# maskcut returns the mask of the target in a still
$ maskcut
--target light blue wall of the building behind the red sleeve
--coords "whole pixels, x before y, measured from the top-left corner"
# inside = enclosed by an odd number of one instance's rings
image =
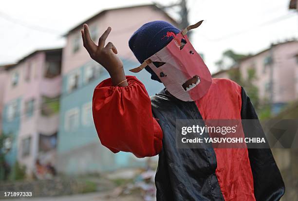
[[[90,61],[93,62],[93,61]],[[72,72],[64,74],[62,76],[62,94],[60,98],[60,123],[59,123],[59,132],[58,132],[58,146],[57,146],[57,153],[63,154],[65,152],[69,152],[71,150],[79,149],[80,147],[86,146],[93,142],[100,143],[97,133],[94,127],[94,124],[90,126],[82,125],[82,107],[84,104],[88,102],[92,102],[93,90],[95,86],[97,86],[102,80],[109,78],[109,74],[105,69],[101,69],[100,75],[97,79],[93,80],[88,84],[84,84],[83,78],[85,73],[85,68],[90,62],[86,63],[85,65],[74,69]],[[139,63],[130,61],[130,60],[123,60],[125,73],[127,75],[135,75],[140,81],[143,82],[145,85],[149,95],[154,95],[155,93],[161,91],[164,86],[156,81],[150,80],[150,74],[145,70],[141,71],[140,73],[131,73],[129,69],[134,68],[139,65]],[[79,76],[79,84],[78,89],[72,92],[67,91],[67,84],[70,74],[75,71],[80,72]],[[67,131],[65,130],[65,113],[69,110],[77,108],[79,110],[79,125],[74,131]],[[92,113],[90,113],[92,115]],[[110,151],[106,149],[106,151]],[[98,153],[101,154],[101,153]],[[126,152],[119,152],[117,154],[113,154],[114,164],[116,166],[111,167],[111,169],[119,168],[119,167],[127,167],[130,166],[129,158],[132,157],[132,154]],[[109,159],[111,160],[111,159]],[[72,161],[71,166],[75,166],[75,162]],[[104,163],[104,161],[102,162]],[[93,165],[94,169],[98,168],[96,165]],[[106,168],[100,168],[106,169]],[[68,171],[68,170],[67,170]],[[74,172],[75,170],[72,170]],[[87,171],[87,170],[86,170]]]

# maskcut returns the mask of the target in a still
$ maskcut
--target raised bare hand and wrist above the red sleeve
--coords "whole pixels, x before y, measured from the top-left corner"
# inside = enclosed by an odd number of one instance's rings
[[[123,70],[123,63],[120,58],[116,55],[117,49],[112,44],[108,42],[105,46],[106,39],[111,32],[111,27],[99,37],[98,45],[96,45],[90,37],[89,27],[87,24],[84,24],[84,29],[81,30],[83,45],[86,48],[87,52],[91,58],[101,64],[110,74],[112,78],[113,85],[117,85],[121,81],[125,80],[125,74]],[[119,86],[127,86],[127,82],[123,82]]]

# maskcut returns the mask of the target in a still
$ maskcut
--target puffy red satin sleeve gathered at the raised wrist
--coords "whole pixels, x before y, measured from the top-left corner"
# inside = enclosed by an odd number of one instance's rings
[[[135,76],[126,78],[127,87],[114,87],[109,78],[94,89],[92,109],[98,137],[114,153],[155,156],[162,148],[162,129],[152,116],[145,86]]]

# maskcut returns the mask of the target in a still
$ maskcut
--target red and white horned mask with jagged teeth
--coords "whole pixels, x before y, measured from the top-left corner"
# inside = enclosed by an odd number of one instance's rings
[[[202,22],[188,26],[166,47],[130,71],[137,73],[149,66],[176,98],[195,101],[203,97],[211,85],[211,74],[186,35],[188,30],[200,26]]]

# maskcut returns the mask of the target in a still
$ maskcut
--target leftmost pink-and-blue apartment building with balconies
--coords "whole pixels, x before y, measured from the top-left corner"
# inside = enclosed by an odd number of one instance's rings
[[[55,163],[62,49],[38,50],[6,66],[2,132],[6,161],[32,173],[36,159]]]

